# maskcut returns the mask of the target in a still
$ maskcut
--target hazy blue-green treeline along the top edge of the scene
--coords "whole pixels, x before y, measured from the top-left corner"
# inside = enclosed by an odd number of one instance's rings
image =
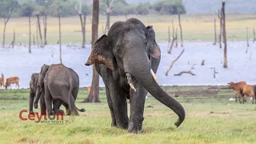
[[[100,14],[106,14],[106,1],[100,0]],[[129,4],[126,0],[114,0],[111,15],[124,14],[186,14],[180,0],[162,0],[154,3],[140,2]],[[81,14],[91,14],[92,4],[85,0],[0,0],[0,17],[26,17],[34,14],[69,17]]]

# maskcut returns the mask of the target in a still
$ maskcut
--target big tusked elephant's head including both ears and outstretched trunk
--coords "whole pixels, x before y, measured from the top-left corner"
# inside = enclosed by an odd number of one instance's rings
[[[185,110],[179,102],[162,90],[150,72],[150,58],[160,57],[161,52],[155,42],[153,27],[146,27],[138,19],[130,18],[126,22],[115,22],[108,36],[98,38],[86,65],[98,63],[110,70],[124,70],[126,75],[131,75],[141,82],[154,98],[178,114],[175,125],[179,126],[185,118]]]

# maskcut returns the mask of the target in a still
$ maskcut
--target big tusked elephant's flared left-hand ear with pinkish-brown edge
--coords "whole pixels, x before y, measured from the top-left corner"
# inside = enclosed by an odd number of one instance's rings
[[[114,55],[107,42],[106,34],[95,42],[90,57],[86,62],[86,66],[93,65],[94,63],[103,64],[110,70],[116,70],[117,63],[114,60]]]

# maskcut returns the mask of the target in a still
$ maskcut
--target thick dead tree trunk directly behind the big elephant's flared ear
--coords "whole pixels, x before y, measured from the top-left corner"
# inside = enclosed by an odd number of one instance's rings
[[[91,34],[91,49],[93,49],[94,42],[98,38],[98,13],[99,2],[94,0],[93,2],[93,21],[92,21],[92,34]],[[99,75],[93,66],[93,79],[91,82],[90,94],[84,102],[100,102],[99,100]]]

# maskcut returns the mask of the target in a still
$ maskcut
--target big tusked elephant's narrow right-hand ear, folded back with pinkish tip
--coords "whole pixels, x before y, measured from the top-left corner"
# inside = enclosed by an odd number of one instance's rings
[[[160,50],[160,47],[158,46],[158,43],[155,42],[155,33],[154,33],[153,26],[146,26],[146,30],[147,30],[146,38],[150,48],[149,54],[153,58],[160,59],[161,50]]]

